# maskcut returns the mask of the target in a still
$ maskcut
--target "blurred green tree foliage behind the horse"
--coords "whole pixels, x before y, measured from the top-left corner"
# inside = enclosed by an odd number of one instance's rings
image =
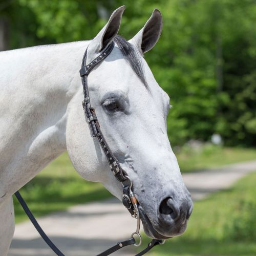
[[[0,4],[10,49],[93,38],[120,0],[14,0]],[[171,96],[174,145],[220,134],[226,145],[256,144],[256,2],[254,0],[126,1],[120,34],[131,38],[154,8],[164,27],[145,55]]]

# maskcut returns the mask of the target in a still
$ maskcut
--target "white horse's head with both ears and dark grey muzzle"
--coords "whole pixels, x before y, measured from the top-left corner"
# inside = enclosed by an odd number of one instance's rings
[[[115,44],[88,76],[91,104],[106,141],[133,181],[146,234],[165,239],[184,232],[193,203],[167,136],[169,97],[143,58],[160,37],[162,16],[155,9],[145,26],[126,41],[117,35],[123,11],[124,7],[115,10],[89,43],[87,64],[113,41]],[[110,172],[99,142],[91,137],[84,120],[82,97],[81,88],[69,104],[68,153],[83,178],[101,182],[122,199],[122,185]]]

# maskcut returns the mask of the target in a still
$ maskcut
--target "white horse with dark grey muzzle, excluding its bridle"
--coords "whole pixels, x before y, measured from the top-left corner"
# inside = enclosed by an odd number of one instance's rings
[[[91,104],[121,167],[133,180],[146,234],[165,239],[184,232],[193,204],[166,132],[169,97],[143,58],[158,41],[154,10],[129,41],[117,36],[124,6],[90,41],[0,53],[0,254],[14,232],[12,195],[68,150],[77,172],[122,198],[84,118],[79,69],[114,40],[111,54],[88,77]],[[143,208],[143,210],[142,210]]]

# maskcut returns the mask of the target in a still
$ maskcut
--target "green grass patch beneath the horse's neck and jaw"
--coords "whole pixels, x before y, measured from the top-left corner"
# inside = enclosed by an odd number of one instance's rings
[[[82,179],[74,170],[65,153],[48,165],[40,174],[20,189],[20,193],[36,217],[69,206],[106,199],[112,195],[101,184]],[[14,199],[15,222],[27,220],[27,216]]]

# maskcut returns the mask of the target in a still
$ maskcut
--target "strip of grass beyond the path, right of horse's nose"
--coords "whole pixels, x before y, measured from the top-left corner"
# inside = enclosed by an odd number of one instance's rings
[[[255,148],[230,148],[205,145],[200,150],[183,147],[175,153],[182,173],[219,167],[225,164],[256,160]]]

